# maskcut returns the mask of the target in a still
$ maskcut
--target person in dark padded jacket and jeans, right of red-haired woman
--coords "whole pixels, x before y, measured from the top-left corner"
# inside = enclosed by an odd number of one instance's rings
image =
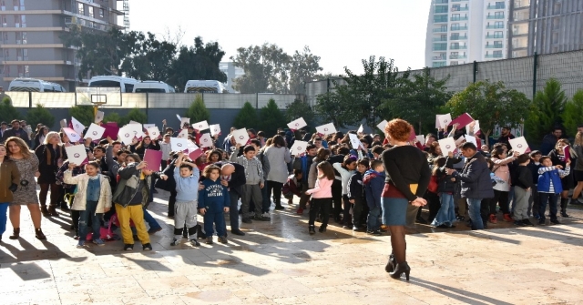
[[[460,181],[456,195],[467,200],[472,229],[484,229],[484,221],[480,214],[482,199],[494,197],[490,168],[486,158],[477,152],[474,143],[465,142],[462,146],[462,155],[466,158],[462,171],[447,168],[447,175],[452,175]]]

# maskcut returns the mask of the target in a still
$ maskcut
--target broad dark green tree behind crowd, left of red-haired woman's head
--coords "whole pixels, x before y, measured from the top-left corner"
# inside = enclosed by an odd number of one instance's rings
[[[399,76],[399,70],[394,66],[394,60],[385,61],[380,57],[370,56],[363,59],[363,75],[355,75],[344,67],[346,85],[338,86],[335,80],[332,93],[317,97],[316,112],[326,117],[340,127],[351,126],[365,121],[368,127],[374,128],[383,119],[394,117],[390,105],[395,97],[395,88],[408,78],[409,71]],[[338,115],[337,115],[338,113]],[[337,115],[337,116],[336,116]]]

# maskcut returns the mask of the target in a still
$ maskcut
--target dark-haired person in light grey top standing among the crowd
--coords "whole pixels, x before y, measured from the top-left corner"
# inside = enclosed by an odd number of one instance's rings
[[[285,146],[285,139],[280,135],[273,137],[271,147],[265,149],[265,157],[270,162],[270,172],[267,175],[267,196],[271,198],[272,192],[275,209],[283,209],[281,207],[281,188],[288,179],[288,163],[292,161],[290,149]]]

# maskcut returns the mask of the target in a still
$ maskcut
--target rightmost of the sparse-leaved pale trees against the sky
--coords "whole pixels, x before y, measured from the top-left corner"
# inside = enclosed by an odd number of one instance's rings
[[[290,93],[305,94],[305,83],[323,70],[319,62],[320,56],[312,55],[309,46],[304,46],[302,53],[295,51],[290,65]]]

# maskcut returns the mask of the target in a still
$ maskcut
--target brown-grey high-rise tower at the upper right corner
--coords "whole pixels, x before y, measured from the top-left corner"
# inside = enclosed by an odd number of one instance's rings
[[[583,1],[512,0],[508,57],[583,49]]]

